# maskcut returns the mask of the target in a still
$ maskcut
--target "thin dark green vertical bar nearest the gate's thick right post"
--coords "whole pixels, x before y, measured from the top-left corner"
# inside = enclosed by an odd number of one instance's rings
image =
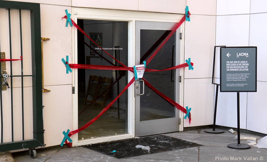
[[[22,56],[22,27],[20,10],[20,56]],[[23,75],[23,62],[21,60],[21,75]],[[24,140],[24,102],[23,102],[23,76],[21,77],[21,107],[22,107],[22,140]]]

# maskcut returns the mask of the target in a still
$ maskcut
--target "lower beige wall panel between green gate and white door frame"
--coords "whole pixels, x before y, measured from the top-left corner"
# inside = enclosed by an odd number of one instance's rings
[[[43,93],[43,117],[46,147],[60,145],[63,131],[72,131],[71,85],[45,86],[51,92]]]

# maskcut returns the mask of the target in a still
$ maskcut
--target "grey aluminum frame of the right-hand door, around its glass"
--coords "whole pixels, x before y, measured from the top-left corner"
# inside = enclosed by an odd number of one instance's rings
[[[172,30],[174,25],[177,23],[173,22],[147,22],[147,21],[136,21],[136,65],[140,64],[140,30]],[[177,29],[174,33],[175,36],[175,66],[179,65],[177,63],[180,62],[180,37],[178,36],[180,33],[181,27]],[[180,70],[175,70],[175,102],[179,104],[179,96],[180,96],[180,82],[178,81],[180,76]],[[152,85],[153,86],[153,85]],[[145,87],[147,88],[147,87]],[[136,89],[135,92],[141,89]],[[146,135],[155,135],[167,132],[176,132],[179,131],[179,110],[175,108],[175,117],[173,118],[165,118],[165,119],[155,119],[148,121],[140,121],[140,96],[135,95],[135,137],[141,137]]]

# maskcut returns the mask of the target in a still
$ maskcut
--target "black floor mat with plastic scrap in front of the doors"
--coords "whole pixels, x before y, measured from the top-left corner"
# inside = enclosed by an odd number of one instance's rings
[[[147,152],[147,150],[142,151],[141,148],[137,149],[135,147],[136,145],[149,146],[151,148],[150,152]],[[197,146],[202,145],[165,135],[153,135],[129,140],[118,140],[92,145],[83,145],[82,147],[121,159]],[[114,150],[116,150],[116,152],[114,152]]]

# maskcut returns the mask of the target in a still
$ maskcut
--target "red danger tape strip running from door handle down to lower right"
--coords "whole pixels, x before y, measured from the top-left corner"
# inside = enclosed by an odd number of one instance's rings
[[[184,107],[182,107],[181,105],[179,105],[178,103],[173,101],[171,98],[167,97],[166,95],[163,95],[160,91],[158,91],[151,84],[149,84],[144,78],[142,78],[142,80],[144,80],[144,83],[145,83],[145,85],[147,85],[147,87],[149,87],[151,90],[153,90],[155,93],[157,93],[165,101],[169,102],[171,105],[175,106],[176,108],[178,108],[179,110],[181,110],[185,114],[187,113],[187,111],[186,111],[186,109]],[[188,119],[189,119],[189,124],[190,124],[191,123],[191,114],[190,113],[189,113]]]

